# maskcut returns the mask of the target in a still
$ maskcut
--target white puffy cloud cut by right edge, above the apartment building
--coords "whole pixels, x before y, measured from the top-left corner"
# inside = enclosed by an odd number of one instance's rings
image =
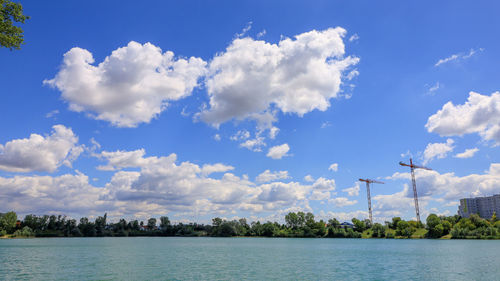
[[[485,141],[500,144],[500,92],[491,96],[469,93],[463,105],[446,103],[430,116],[425,125],[428,132],[441,136],[462,136],[478,133]]]

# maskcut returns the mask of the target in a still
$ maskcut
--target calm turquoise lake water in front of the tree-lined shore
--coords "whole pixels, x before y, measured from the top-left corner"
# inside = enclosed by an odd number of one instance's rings
[[[500,241],[0,240],[0,280],[500,280]]]

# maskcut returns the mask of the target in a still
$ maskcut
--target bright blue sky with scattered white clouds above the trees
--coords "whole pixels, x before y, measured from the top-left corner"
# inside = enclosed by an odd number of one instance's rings
[[[376,2],[376,3],[375,3]],[[494,1],[22,1],[0,212],[454,215],[500,193]]]

